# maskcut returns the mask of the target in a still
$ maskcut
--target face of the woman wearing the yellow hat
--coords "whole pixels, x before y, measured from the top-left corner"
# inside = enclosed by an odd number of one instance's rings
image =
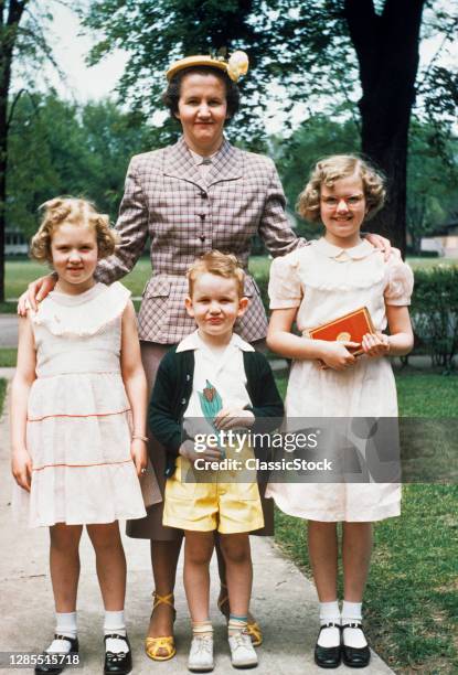
[[[226,87],[212,73],[189,73],[181,82],[177,117],[184,140],[198,154],[212,154],[223,142],[227,116]]]

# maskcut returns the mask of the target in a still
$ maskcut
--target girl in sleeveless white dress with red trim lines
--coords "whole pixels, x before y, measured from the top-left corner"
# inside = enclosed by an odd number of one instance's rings
[[[147,465],[147,385],[130,293],[94,279],[115,245],[108,217],[88,202],[44,204],[31,255],[51,262],[57,283],[38,312],[20,319],[11,439],[29,524],[50,527],[56,630],[46,653],[78,651],[78,545],[86,525],[105,606],[105,673],[119,674],[130,672],[131,654],[118,519],[146,514],[139,476]],[[63,669],[47,661],[35,673]]]

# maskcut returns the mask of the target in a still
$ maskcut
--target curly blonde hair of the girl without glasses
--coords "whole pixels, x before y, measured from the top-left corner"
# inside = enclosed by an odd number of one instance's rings
[[[109,226],[109,217],[98,213],[87,200],[58,196],[40,206],[43,217],[36,234],[32,237],[30,257],[41,262],[52,262],[51,242],[53,233],[63,223],[90,225],[94,227],[98,257],[106,258],[115,253],[118,234]]]

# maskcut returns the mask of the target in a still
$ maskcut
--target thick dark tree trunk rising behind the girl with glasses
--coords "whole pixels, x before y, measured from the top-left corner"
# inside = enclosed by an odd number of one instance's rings
[[[345,0],[344,17],[356,51],[363,95],[361,149],[387,179],[388,197],[370,224],[405,254],[407,141],[425,0]]]

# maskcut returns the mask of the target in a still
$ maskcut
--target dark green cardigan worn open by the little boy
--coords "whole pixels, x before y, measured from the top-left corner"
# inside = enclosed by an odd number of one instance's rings
[[[278,426],[284,405],[267,358],[259,352],[243,352],[247,392],[255,424],[254,432],[267,432]],[[174,472],[175,458],[183,442],[181,421],[192,394],[194,351],[177,353],[172,347],[162,358],[156,376],[148,410],[149,427],[166,447],[168,461],[166,475]],[[271,422],[269,422],[271,420]]]

